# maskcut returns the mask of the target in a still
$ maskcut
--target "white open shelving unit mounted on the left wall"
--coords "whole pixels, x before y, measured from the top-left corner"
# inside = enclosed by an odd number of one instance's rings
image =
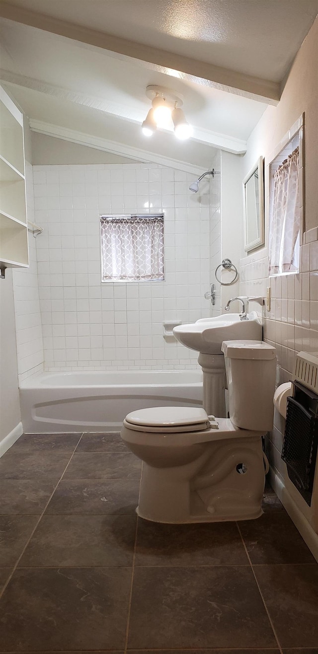
[[[28,267],[23,116],[0,86],[0,267]]]

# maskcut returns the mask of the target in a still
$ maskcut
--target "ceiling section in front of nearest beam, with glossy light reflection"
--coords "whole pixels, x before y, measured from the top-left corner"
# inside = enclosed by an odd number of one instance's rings
[[[267,80],[281,80],[318,0],[9,0],[23,7]]]

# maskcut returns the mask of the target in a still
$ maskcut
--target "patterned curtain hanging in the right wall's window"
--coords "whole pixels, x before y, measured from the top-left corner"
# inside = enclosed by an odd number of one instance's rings
[[[274,173],[270,203],[270,275],[298,270],[299,243],[299,149],[289,154]]]

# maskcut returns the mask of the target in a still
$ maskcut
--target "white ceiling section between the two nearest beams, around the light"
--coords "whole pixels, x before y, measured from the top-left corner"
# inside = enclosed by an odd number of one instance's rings
[[[184,96],[186,117],[197,128],[198,137],[198,131],[203,132],[203,141],[209,141],[204,130],[246,141],[266,109],[264,103],[187,80],[167,78],[135,60],[113,59],[104,50],[91,50],[75,41],[7,20],[0,22],[0,43],[2,69],[21,75],[18,82],[22,86],[30,83],[28,78],[35,78],[40,82],[37,90],[54,95],[54,87],[58,87],[60,97],[138,123],[150,109],[145,95],[147,84],[174,88]],[[28,105],[30,117],[35,110]]]

